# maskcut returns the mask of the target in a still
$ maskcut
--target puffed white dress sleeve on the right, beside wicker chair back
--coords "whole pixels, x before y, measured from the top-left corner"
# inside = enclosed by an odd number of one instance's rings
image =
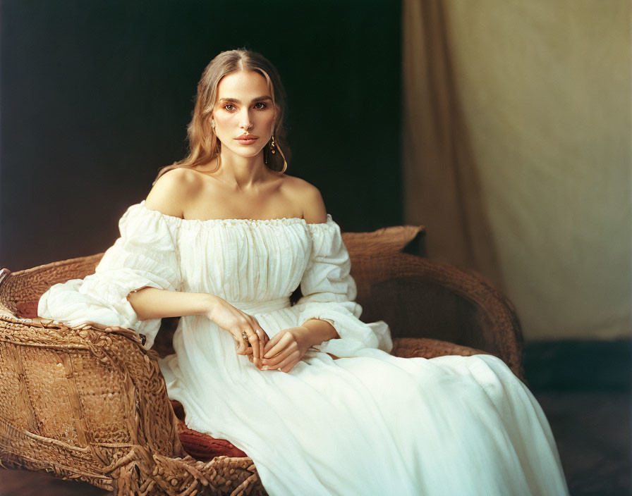
[[[303,297],[298,299],[298,325],[310,318],[331,323],[339,334],[316,345],[320,352],[335,356],[354,356],[363,348],[377,348],[390,353],[391,331],[384,321],[363,323],[362,307],[355,302],[356,281],[350,274],[351,259],[342,240],[340,227],[327,214],[327,222],[308,224],[312,252],[300,281]]]

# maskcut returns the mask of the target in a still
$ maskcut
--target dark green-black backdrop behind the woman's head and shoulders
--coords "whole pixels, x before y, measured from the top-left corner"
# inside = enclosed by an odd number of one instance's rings
[[[319,187],[343,230],[402,222],[399,2],[0,5],[0,266],[113,244],[126,208],[184,156],[203,68],[241,46],[286,86],[287,173]]]

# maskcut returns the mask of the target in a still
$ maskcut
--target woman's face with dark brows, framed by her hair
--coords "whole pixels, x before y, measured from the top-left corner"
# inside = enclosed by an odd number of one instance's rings
[[[212,118],[222,153],[256,156],[269,142],[274,106],[267,81],[260,73],[240,71],[221,78]],[[249,137],[240,140],[240,137]]]

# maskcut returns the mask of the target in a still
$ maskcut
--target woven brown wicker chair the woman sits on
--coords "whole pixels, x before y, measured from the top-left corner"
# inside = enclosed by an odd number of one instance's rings
[[[421,226],[343,233],[362,320],[384,320],[392,354],[490,353],[523,379],[511,303],[479,275],[423,258]],[[265,495],[247,454],[188,429],[157,358],[177,318],[145,350],[131,330],[78,330],[37,318],[55,283],[93,273],[103,254],[0,272],[0,466],[87,481],[116,495]],[[300,297],[300,290],[292,301]]]

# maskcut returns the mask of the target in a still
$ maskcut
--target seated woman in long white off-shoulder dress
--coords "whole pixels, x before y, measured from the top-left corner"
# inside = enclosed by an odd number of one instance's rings
[[[501,359],[398,358],[384,321],[359,320],[339,226],[284,173],[283,116],[264,57],[214,58],[189,156],[39,316],[133,328],[147,348],[160,318],[182,316],[159,361],[169,397],[248,453],[272,496],[568,494],[547,419]]]

